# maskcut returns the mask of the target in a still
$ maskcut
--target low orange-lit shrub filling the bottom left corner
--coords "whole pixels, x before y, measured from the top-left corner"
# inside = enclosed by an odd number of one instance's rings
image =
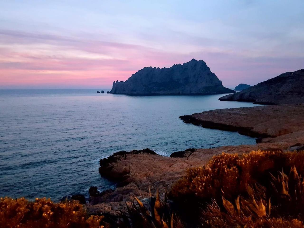
[[[50,199],[29,202],[24,198],[0,199],[1,228],[97,228],[103,216],[88,216],[78,201],[54,203]]]

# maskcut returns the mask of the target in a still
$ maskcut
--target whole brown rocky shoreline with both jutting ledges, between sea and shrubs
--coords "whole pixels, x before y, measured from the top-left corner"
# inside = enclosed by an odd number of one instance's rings
[[[164,199],[172,184],[188,168],[203,166],[221,152],[242,154],[252,150],[293,151],[304,148],[304,122],[299,121],[304,119],[303,104],[221,109],[182,118],[203,127],[233,130],[262,138],[256,145],[192,148],[174,152],[171,157],[157,155],[147,148],[120,151],[103,158],[99,172],[103,177],[116,181],[117,188],[93,197],[86,204],[89,213],[115,217],[127,214],[126,203],[134,202],[135,196],[147,203],[149,186],[152,194],[158,189],[161,199]]]

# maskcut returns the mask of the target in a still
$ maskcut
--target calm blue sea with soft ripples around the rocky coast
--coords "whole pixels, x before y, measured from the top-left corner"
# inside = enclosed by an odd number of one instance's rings
[[[93,90],[0,90],[0,197],[87,194],[115,187],[99,159],[149,147],[168,156],[187,148],[254,144],[255,139],[183,123],[180,115],[251,103],[221,95],[148,96]],[[99,89],[101,91],[101,89]]]

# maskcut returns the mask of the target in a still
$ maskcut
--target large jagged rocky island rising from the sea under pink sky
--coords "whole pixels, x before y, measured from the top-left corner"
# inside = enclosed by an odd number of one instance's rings
[[[170,68],[145,67],[125,82],[113,82],[112,94],[224,94],[234,90],[223,87],[203,60],[192,59]]]

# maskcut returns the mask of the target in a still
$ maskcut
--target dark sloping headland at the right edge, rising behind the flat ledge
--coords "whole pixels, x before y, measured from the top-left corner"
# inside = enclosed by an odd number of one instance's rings
[[[257,104],[304,102],[304,69],[286,72],[246,90],[220,97],[219,100],[250,101]]]

